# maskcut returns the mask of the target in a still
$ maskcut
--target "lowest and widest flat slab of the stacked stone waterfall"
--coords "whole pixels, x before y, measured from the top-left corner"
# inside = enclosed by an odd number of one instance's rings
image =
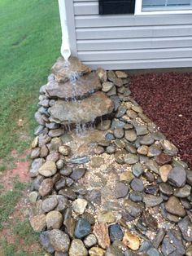
[[[93,122],[113,111],[113,102],[103,92],[98,91],[88,98],[72,101],[58,100],[50,108],[50,121],[61,124],[82,124]]]

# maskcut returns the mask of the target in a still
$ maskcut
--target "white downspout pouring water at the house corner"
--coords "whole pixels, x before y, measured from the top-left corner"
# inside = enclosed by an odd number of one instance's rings
[[[68,22],[67,22],[67,16],[66,16],[65,0],[58,0],[58,2],[59,2],[59,14],[60,14],[60,20],[61,20],[61,29],[62,29],[61,55],[63,56],[64,60],[68,61],[68,58],[72,53],[71,53],[69,38],[68,38]]]

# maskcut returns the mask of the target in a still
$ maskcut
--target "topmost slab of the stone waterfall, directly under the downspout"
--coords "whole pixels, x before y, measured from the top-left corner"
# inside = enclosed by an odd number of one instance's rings
[[[81,76],[85,73],[90,73],[91,69],[76,57],[70,57],[68,63],[66,63],[63,57],[59,57],[51,71],[55,75],[57,82],[66,82],[70,80],[72,75]]]

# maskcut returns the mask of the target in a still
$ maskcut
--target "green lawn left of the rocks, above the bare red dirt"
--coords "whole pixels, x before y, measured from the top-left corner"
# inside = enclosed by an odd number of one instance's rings
[[[0,159],[6,159],[31,141],[38,90],[59,56],[61,35],[56,0],[1,0],[0,10]]]

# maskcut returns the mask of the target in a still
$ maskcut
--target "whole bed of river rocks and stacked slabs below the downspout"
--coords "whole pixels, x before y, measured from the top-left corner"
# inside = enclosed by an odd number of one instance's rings
[[[90,73],[78,60],[72,63],[85,87],[71,90],[59,59],[41,87],[35,115],[40,126],[29,170],[29,199],[36,206],[30,223],[41,232],[41,245],[55,256],[191,256],[192,171],[130,97],[126,73]],[[63,125],[93,121],[113,108],[115,117],[97,126],[104,139],[74,158]]]

